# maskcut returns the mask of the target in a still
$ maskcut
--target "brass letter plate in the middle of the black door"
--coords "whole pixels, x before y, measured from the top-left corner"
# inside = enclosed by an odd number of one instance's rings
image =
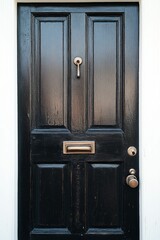
[[[95,154],[95,141],[64,141],[63,154]]]

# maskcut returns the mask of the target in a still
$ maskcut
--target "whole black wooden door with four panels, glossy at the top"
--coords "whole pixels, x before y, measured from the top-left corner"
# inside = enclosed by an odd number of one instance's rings
[[[18,49],[19,240],[138,240],[138,5],[20,4]]]

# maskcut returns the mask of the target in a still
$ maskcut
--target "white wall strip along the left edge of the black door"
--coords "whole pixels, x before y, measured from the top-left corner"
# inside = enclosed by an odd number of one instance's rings
[[[0,239],[17,236],[16,5],[0,0]]]

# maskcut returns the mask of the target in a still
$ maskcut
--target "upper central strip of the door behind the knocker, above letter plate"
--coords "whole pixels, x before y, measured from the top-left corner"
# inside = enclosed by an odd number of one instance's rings
[[[71,129],[74,133],[83,133],[86,128],[86,34],[85,14],[71,14]],[[77,66],[73,63],[75,57],[82,58],[80,65],[80,77],[77,78]]]

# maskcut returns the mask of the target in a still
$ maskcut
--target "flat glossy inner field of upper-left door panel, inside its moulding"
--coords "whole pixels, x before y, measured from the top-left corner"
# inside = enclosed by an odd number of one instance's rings
[[[66,74],[65,65],[67,58],[64,59],[64,43],[66,36],[64,23],[41,22],[41,125],[64,125],[64,89]],[[66,36],[67,37],[67,36]],[[66,57],[66,56],[65,56]],[[64,73],[65,72],[65,73]],[[65,94],[66,95],[66,94]],[[53,104],[54,103],[54,104]]]

